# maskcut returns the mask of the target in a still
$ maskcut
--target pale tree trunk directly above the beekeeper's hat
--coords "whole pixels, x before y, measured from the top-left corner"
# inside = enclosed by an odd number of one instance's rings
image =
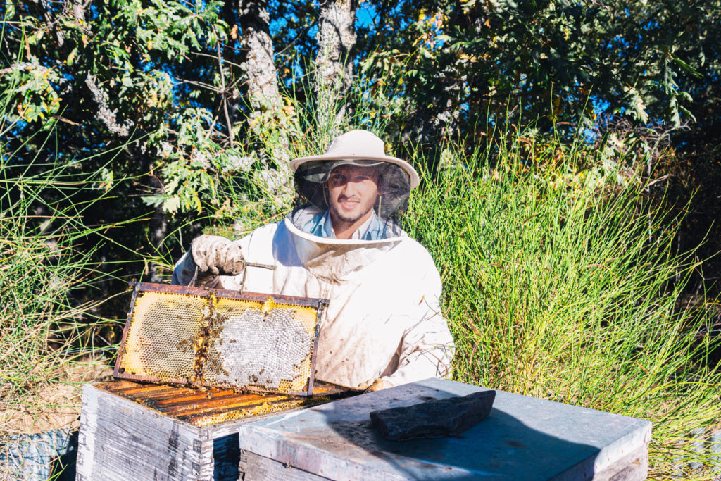
[[[357,0],[327,0],[318,19],[316,56],[317,121],[335,135],[348,114],[345,97],[353,85],[351,51],[355,47]]]

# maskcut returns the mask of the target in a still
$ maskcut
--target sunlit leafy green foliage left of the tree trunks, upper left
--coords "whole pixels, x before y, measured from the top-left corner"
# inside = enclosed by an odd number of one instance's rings
[[[227,37],[220,9],[219,1],[16,3],[3,22],[9,66],[0,80],[0,88],[12,86],[10,134],[22,144],[35,129],[54,127],[64,156],[138,139],[124,162],[104,167],[106,180],[155,173],[146,203],[197,212],[215,195],[214,169],[228,167],[226,153],[217,155],[227,137],[213,120],[216,50]],[[26,145],[27,154],[37,148]],[[86,166],[106,162],[96,156]]]

